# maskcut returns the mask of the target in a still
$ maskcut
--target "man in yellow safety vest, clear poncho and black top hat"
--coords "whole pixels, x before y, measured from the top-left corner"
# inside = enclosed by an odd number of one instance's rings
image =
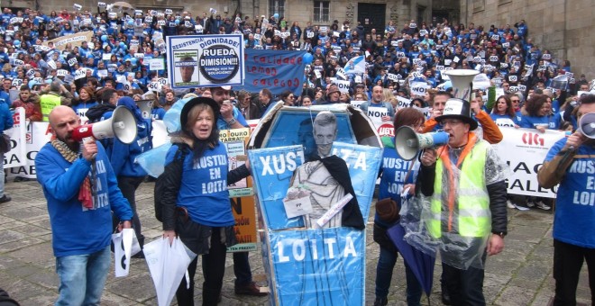
[[[470,103],[451,98],[435,119],[449,139],[422,155],[418,183],[426,203],[424,222],[440,250],[452,304],[485,305],[486,255],[499,254],[507,234],[508,168],[490,143],[471,132],[478,123]]]

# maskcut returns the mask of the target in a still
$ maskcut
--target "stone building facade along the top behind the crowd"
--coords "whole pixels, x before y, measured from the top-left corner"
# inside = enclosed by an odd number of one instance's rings
[[[113,1],[105,1],[111,3]],[[4,0],[3,7],[37,8],[49,14],[52,10],[72,10],[72,4],[96,12],[96,0]],[[130,0],[139,9],[166,8],[188,11],[193,15],[208,12],[210,7],[222,16],[235,14],[254,16],[278,13],[289,22],[297,21],[302,27],[307,22],[330,25],[334,20],[350,21],[352,28],[358,22],[368,30],[384,30],[390,20],[398,29],[414,20],[453,23],[475,23],[489,27],[524,19],[529,36],[540,49],[549,49],[554,58],[569,59],[572,71],[595,78],[595,0]]]

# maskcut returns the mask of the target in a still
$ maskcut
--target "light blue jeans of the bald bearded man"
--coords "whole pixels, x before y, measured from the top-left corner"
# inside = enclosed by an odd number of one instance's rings
[[[111,264],[109,246],[92,254],[56,258],[56,305],[98,305]]]

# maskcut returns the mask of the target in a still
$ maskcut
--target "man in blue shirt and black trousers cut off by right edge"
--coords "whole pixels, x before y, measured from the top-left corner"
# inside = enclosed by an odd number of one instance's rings
[[[579,100],[579,128],[558,140],[545,157],[537,179],[544,188],[560,184],[554,211],[554,305],[576,305],[576,287],[583,261],[595,263],[595,94]],[[591,292],[592,295],[592,292]],[[593,297],[591,296],[591,300]]]

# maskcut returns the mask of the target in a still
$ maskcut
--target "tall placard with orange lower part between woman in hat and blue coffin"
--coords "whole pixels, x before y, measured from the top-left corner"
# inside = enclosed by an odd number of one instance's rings
[[[227,149],[229,170],[242,166],[246,162],[246,141],[250,137],[250,129],[220,130],[219,140]],[[227,247],[228,252],[246,252],[256,250],[256,210],[252,178],[243,178],[227,187],[232,202],[235,226],[233,232],[238,244]]]

